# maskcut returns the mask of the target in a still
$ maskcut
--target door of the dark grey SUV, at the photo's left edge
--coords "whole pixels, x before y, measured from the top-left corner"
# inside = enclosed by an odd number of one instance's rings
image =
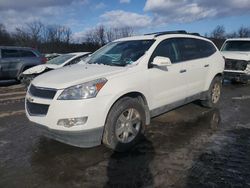
[[[0,62],[0,76],[5,79],[16,78],[18,63],[20,62],[19,51],[15,49],[2,49]]]

